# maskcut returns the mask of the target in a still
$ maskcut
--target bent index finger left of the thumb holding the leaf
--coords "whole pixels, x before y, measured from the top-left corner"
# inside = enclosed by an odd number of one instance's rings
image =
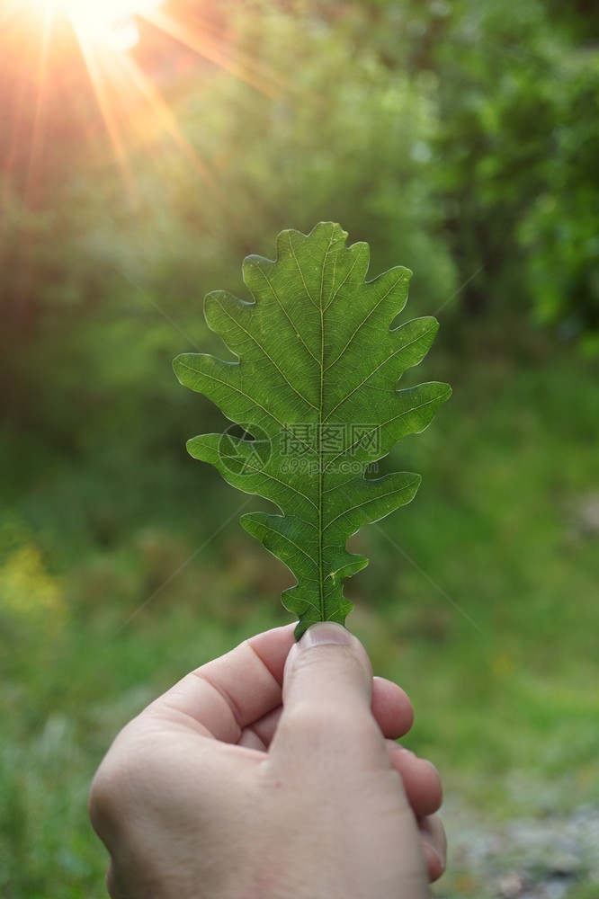
[[[281,705],[283,668],[293,643],[292,625],[252,637],[188,674],[147,711],[237,743],[247,725]]]

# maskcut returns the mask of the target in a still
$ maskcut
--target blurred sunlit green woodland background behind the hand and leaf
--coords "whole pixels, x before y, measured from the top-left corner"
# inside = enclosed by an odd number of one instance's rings
[[[4,899],[105,895],[113,736],[290,620],[171,360],[221,352],[204,294],[320,220],[415,272],[441,331],[410,378],[454,388],[346,586],[443,773],[435,895],[597,895],[598,98],[589,0],[0,4]]]

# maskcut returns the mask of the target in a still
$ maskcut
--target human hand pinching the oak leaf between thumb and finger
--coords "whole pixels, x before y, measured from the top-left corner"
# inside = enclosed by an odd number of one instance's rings
[[[284,676],[283,676],[284,673]],[[127,725],[98,770],[112,899],[424,899],[443,871],[412,709],[340,625],[253,637]]]

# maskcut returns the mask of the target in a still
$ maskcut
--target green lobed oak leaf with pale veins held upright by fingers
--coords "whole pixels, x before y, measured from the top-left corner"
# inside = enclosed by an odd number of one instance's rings
[[[451,396],[437,382],[398,389],[438,323],[425,317],[391,328],[412,273],[398,266],[365,280],[369,246],[348,247],[346,238],[330,222],[308,236],[283,231],[274,261],[252,255],[243,264],[254,301],[223,290],[206,297],[208,325],[239,361],[203,353],[174,360],[183,385],[246,431],[201,434],[187,448],[281,510],[251,512],[241,523],[297,579],[282,601],[299,617],[298,638],[317,621],[344,623],[353,608],[344,578],[368,564],[347,551],[347,539],[409,503],[420,483],[407,472],[373,477],[376,463],[423,431]]]

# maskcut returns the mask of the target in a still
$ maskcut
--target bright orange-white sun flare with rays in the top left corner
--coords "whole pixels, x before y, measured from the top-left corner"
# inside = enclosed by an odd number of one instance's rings
[[[184,67],[190,58],[199,58],[204,60],[204,68],[195,69],[200,79],[202,71],[219,68],[275,99],[292,97],[296,86],[215,29],[201,6],[183,18],[168,6],[166,0],[0,0],[0,32],[8,25],[13,48],[22,48],[13,54],[13,67],[31,85],[28,183],[42,183],[48,115],[56,110],[57,97],[76,109],[91,87],[103,128],[94,132],[89,119],[85,133],[103,132],[108,138],[133,203],[139,198],[136,155],[149,153],[159,141],[161,158],[174,152],[183,165],[192,166],[219,205],[228,207],[201,147],[182,129],[164,85],[168,87],[182,58]],[[151,52],[156,47],[163,48],[157,64]],[[0,76],[2,66],[0,54]]]

